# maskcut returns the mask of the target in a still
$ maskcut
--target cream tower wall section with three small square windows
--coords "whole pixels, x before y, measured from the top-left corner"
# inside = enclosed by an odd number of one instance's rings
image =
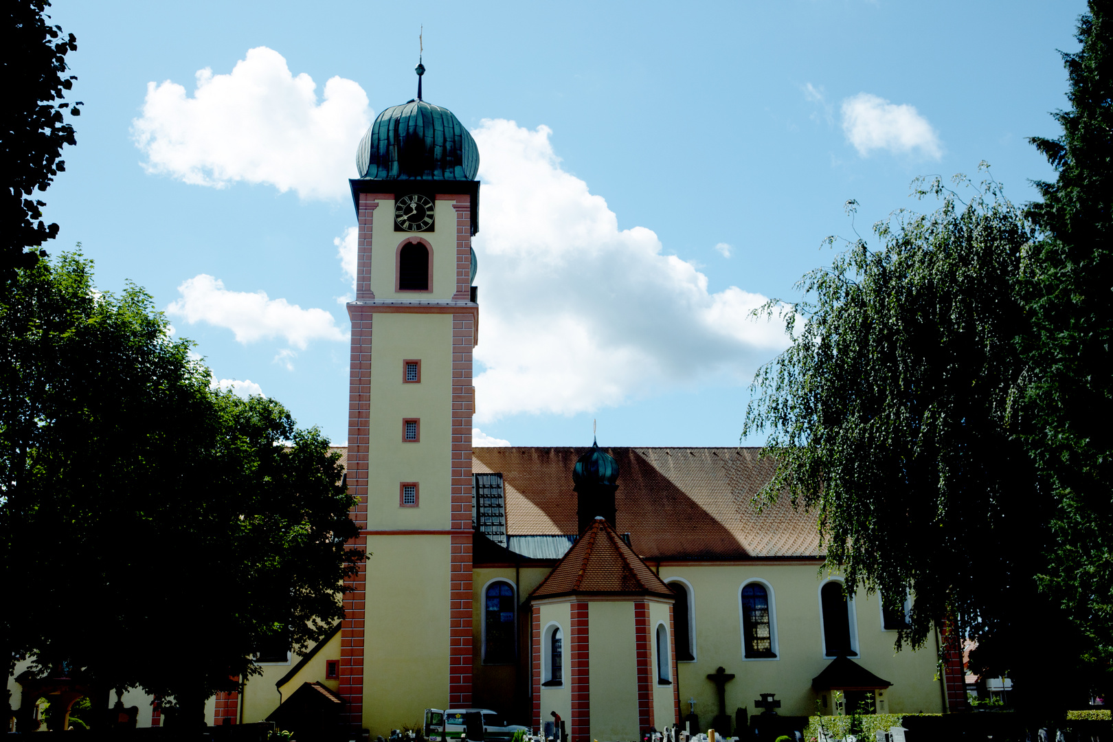
[[[367,527],[447,530],[452,513],[452,315],[375,314],[373,327]],[[420,384],[402,380],[402,362],[407,358],[421,360]],[[421,418],[420,442],[402,441],[406,417]],[[418,483],[418,507],[400,507],[401,482]],[[437,568],[446,571],[447,560]]]

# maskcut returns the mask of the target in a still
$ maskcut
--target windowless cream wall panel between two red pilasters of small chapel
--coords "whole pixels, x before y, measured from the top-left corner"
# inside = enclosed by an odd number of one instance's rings
[[[637,740],[638,651],[633,602],[588,603],[591,739]]]

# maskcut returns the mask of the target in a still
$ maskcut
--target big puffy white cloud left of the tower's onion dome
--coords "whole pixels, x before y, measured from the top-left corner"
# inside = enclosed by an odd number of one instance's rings
[[[248,50],[228,75],[198,70],[191,98],[177,82],[148,82],[131,129],[144,167],[200,186],[243,180],[302,198],[343,198],[372,111],[352,80],[331,78],[321,102],[316,87],[266,47]]]

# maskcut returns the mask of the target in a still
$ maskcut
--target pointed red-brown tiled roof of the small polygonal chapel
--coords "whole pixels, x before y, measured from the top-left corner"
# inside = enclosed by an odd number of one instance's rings
[[[610,524],[597,518],[530,597],[601,594],[672,597],[668,585],[626,545]]]

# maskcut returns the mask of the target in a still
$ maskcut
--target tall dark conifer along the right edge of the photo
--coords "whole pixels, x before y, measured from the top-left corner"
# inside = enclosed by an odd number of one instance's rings
[[[1028,206],[1040,228],[1022,285],[1033,335],[1030,447],[1057,502],[1041,571],[1113,686],[1113,3],[1090,2],[1082,49],[1064,53],[1071,109],[1057,139],[1032,142],[1058,171]]]

